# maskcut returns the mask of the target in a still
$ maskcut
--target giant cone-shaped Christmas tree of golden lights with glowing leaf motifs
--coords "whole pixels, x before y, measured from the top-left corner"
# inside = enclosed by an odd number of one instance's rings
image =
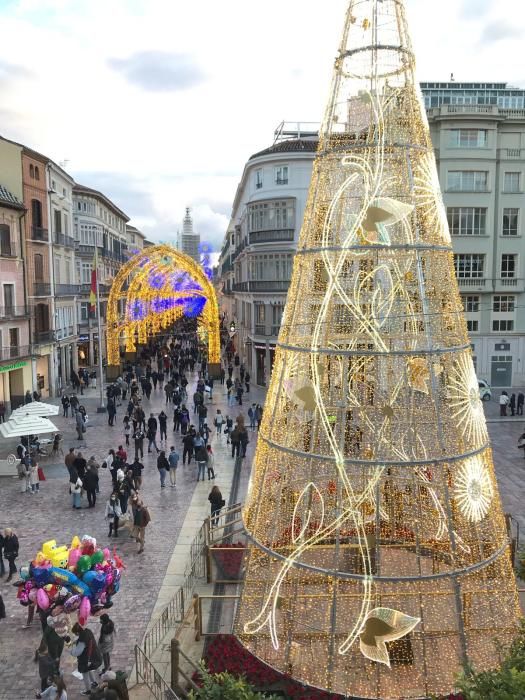
[[[307,684],[449,692],[518,618],[402,0],[352,0],[244,519],[236,632]]]

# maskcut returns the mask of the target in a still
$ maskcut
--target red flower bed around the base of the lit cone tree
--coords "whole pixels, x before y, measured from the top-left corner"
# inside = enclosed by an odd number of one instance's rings
[[[208,641],[204,658],[212,674],[227,671],[233,676],[243,676],[260,691],[281,692],[285,697],[297,700],[343,700],[343,695],[309,688],[290,676],[275,671],[242,646],[233,635],[218,635]],[[193,680],[199,683],[198,675]],[[448,700],[464,700],[462,695],[450,695]]]

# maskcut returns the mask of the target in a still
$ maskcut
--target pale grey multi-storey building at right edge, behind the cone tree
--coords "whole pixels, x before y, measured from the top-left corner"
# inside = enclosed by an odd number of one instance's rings
[[[478,377],[525,384],[525,90],[422,83]]]

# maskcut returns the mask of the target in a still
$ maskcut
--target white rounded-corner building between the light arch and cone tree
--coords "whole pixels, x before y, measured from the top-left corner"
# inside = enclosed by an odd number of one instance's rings
[[[278,127],[244,167],[219,258],[221,312],[252,381],[267,385],[317,150],[313,125]]]

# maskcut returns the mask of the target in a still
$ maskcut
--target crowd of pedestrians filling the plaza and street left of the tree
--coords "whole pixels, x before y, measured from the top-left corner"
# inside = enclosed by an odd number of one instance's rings
[[[231,395],[235,391],[237,403],[242,406],[243,394],[250,392],[250,376],[240,365],[238,357],[228,355],[223,364],[220,382],[221,388],[226,384],[228,405],[231,405]],[[238,377],[232,380],[233,365]],[[89,375],[81,373],[79,379],[81,385],[76,389],[82,394],[89,384]],[[232,382],[231,387],[228,387],[229,381]],[[192,386],[195,382],[193,391],[190,391],[190,382]],[[196,340],[173,340],[166,345],[151,346],[139,361],[127,363],[122,376],[107,387],[108,425],[114,427],[116,432],[121,427],[122,439],[116,437],[116,447],[108,449],[102,458],[86,453],[84,445],[88,415],[77,393],[64,395],[63,416],[73,420],[79,441],[79,445],[70,447],[64,456],[71,508],[96,509],[101,501],[100,514],[108,528],[107,537],[133,538],[137,553],[142,554],[146,529],[152,517],[144,496],[145,472],[149,472],[144,465],[147,451],[156,458],[161,489],[177,488],[177,471],[181,466],[185,470],[185,481],[191,477],[210,483],[208,501],[212,524],[216,525],[225,500],[215,483],[217,465],[214,447],[225,440],[226,445],[231,445],[232,458],[242,460],[249,443],[248,431],[258,429],[262,407],[251,403],[247,411],[247,427],[242,413],[236,416],[229,412],[223,414],[220,408],[213,407],[214,390],[217,390],[214,378],[208,372],[205,353]],[[162,396],[164,408],[154,413],[149,410],[149,404],[152,398],[158,404],[159,396]],[[40,481],[38,459],[28,446],[21,444],[19,447],[18,456],[22,465],[19,466],[19,476],[23,474],[21,490],[35,493]],[[58,450],[61,450],[60,436],[56,448],[58,454]],[[16,576],[18,549],[16,534],[6,529],[0,536],[0,576],[6,573],[5,560],[9,569],[6,581]],[[0,596],[0,619],[3,614],[5,610]],[[35,606],[31,605],[28,610],[29,624],[34,614]],[[110,654],[115,625],[108,615],[99,618],[99,635],[94,634],[89,626],[82,627],[77,623],[64,637],[54,630],[53,617],[42,611],[39,614],[42,640],[35,660],[41,688],[37,697],[67,699],[65,681],[60,673],[64,644],[77,660],[78,672],[85,686],[84,695],[114,699],[127,697],[125,681],[111,670]]]

